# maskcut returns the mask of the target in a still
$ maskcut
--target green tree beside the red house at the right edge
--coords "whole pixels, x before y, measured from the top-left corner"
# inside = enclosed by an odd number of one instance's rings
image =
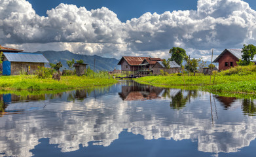
[[[256,47],[253,44],[244,44],[244,48],[242,48],[242,60],[239,60],[236,63],[238,65],[250,65],[255,54]]]

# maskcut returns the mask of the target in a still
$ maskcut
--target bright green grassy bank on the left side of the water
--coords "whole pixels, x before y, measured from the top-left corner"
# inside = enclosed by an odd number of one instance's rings
[[[1,90],[69,90],[116,83],[115,79],[89,79],[88,77],[62,76],[61,80],[38,79],[35,75],[0,77]]]

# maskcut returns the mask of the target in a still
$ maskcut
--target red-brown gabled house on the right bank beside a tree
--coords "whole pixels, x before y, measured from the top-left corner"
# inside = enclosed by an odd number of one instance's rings
[[[242,59],[241,51],[242,49],[225,49],[213,63],[219,63],[219,71],[230,69],[237,66],[236,61]]]

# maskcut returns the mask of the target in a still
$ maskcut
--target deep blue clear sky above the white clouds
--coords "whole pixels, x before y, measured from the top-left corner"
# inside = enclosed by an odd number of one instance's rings
[[[46,16],[46,10],[57,7],[60,3],[85,7],[87,10],[107,7],[117,14],[122,21],[139,18],[145,12],[162,14],[173,10],[196,10],[197,0],[28,0],[37,14]],[[252,9],[256,9],[255,0],[246,0]]]

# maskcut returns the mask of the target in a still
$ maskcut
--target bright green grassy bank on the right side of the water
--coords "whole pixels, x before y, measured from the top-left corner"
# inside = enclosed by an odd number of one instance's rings
[[[200,88],[210,92],[256,94],[256,66],[234,67],[228,71],[211,76],[153,76],[136,79],[142,84],[168,88]],[[214,86],[212,86],[214,81]]]

